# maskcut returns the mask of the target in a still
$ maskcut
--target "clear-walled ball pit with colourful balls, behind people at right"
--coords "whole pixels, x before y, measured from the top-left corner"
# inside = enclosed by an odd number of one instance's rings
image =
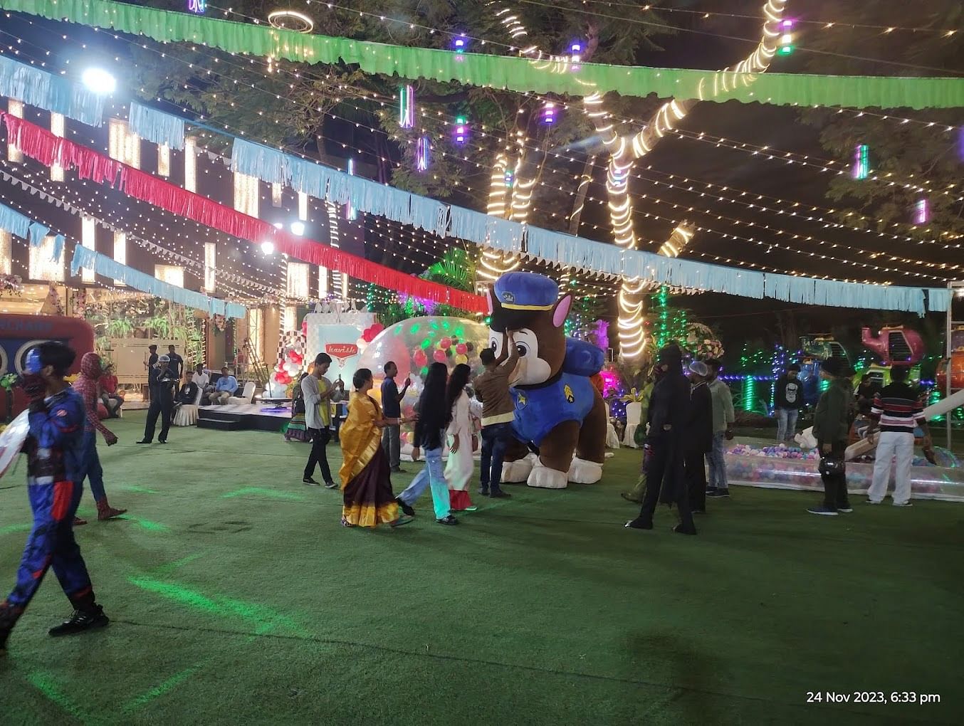
[[[935,448],[938,464],[914,457],[911,491],[915,497],[964,501],[964,468],[951,451]],[[823,491],[817,471],[816,449],[786,445],[734,444],[726,452],[727,477],[732,483],[773,489]],[[847,491],[865,494],[870,488],[873,462],[847,462]],[[893,482],[893,471],[891,473]],[[893,488],[893,484],[892,484]]]

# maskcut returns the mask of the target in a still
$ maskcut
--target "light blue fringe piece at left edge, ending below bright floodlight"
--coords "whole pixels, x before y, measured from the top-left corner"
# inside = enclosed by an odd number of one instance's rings
[[[103,123],[107,102],[106,95],[6,56],[0,56],[0,95],[91,126]]]

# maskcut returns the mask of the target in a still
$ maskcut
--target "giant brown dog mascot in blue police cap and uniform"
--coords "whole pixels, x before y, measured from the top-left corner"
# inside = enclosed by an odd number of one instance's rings
[[[603,368],[604,355],[566,337],[573,296],[560,300],[559,285],[526,272],[503,275],[488,295],[495,360],[508,358],[509,332],[520,355],[511,379],[519,443],[505,453],[502,479],[547,489],[564,489],[570,481],[595,484],[603,476],[606,413],[589,379]],[[538,450],[538,458],[527,456],[525,444]]]

